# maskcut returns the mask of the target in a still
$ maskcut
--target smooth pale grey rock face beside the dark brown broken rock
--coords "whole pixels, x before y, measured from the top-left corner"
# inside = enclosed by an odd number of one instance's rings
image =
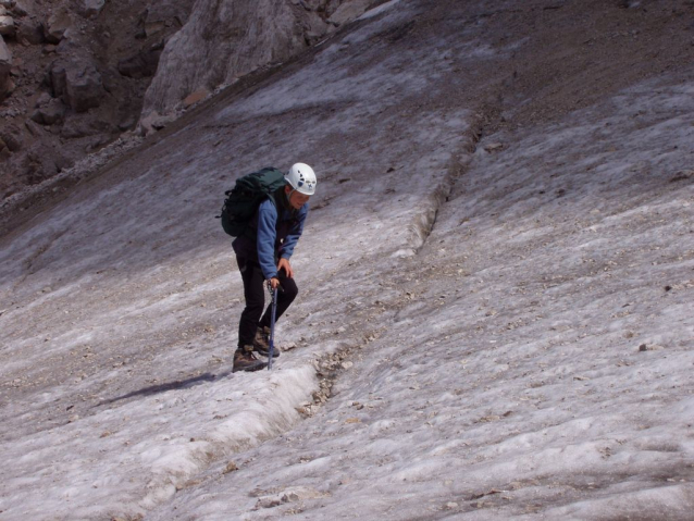
[[[142,115],[165,114],[196,90],[213,91],[260,66],[286,61],[375,3],[200,0],[185,27],[166,44]]]

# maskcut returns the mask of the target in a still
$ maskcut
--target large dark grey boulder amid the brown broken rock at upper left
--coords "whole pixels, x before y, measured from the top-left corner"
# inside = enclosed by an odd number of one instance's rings
[[[75,112],[99,107],[106,96],[101,74],[97,67],[79,59],[55,60],[49,71],[54,98],[62,98]]]

